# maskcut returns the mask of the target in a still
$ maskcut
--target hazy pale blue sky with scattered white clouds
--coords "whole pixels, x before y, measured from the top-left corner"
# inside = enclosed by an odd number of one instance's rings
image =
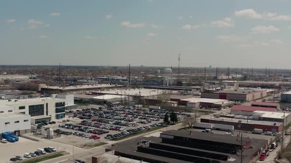
[[[289,68],[291,0],[2,0],[0,65]]]

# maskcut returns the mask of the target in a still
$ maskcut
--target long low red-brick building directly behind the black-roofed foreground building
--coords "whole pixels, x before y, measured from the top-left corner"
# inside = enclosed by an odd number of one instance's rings
[[[280,133],[283,130],[282,122],[258,121],[250,119],[236,119],[220,116],[206,116],[200,122],[234,126],[235,130],[253,131],[262,129],[264,132]]]

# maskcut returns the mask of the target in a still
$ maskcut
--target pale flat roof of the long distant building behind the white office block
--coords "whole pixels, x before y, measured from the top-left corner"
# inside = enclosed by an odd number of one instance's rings
[[[74,90],[74,89],[90,89],[90,88],[103,88],[103,87],[114,87],[122,85],[109,85],[109,84],[86,84],[86,85],[76,85],[76,86],[46,86],[45,89],[58,89],[58,90]]]

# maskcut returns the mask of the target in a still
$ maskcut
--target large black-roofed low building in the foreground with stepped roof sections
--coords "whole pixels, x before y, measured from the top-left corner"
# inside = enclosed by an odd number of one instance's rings
[[[240,137],[239,137],[240,138]],[[137,137],[112,144],[108,153],[149,163],[243,163],[255,162],[267,140],[208,134],[188,130],[170,130],[160,137]]]

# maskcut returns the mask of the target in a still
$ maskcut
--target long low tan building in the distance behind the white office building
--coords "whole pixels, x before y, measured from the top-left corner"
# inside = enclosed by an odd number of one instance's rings
[[[41,92],[61,92],[61,93],[71,93],[71,94],[89,94],[92,91],[97,91],[100,89],[112,89],[112,88],[122,88],[125,85],[113,85],[113,84],[86,84],[86,85],[75,85],[75,86],[46,86],[41,87]]]

